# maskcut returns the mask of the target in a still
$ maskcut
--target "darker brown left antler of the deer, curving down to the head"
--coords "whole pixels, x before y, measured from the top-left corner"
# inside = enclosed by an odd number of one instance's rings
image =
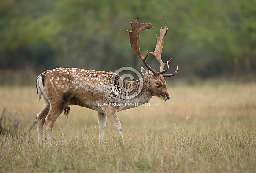
[[[145,57],[141,54],[140,50],[140,40],[139,37],[141,33],[145,29],[151,29],[153,28],[150,23],[144,23],[144,22],[138,22],[138,18],[135,20],[135,22],[130,22],[132,26],[132,31],[128,31],[129,36],[130,36],[130,43],[131,43],[131,48],[132,51],[135,52],[135,54],[141,59],[141,61],[145,64],[145,66],[148,68],[148,70],[152,71],[154,75],[157,75],[157,71],[154,70],[151,66],[148,65],[146,62],[146,58],[148,57],[148,53]]]

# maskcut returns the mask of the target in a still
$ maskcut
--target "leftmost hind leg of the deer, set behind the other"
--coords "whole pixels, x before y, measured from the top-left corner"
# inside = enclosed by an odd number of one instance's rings
[[[44,132],[43,132],[43,126],[45,122],[45,117],[50,111],[50,103],[45,101],[45,105],[43,109],[37,114],[37,133],[38,133],[38,143],[42,144],[44,140]]]

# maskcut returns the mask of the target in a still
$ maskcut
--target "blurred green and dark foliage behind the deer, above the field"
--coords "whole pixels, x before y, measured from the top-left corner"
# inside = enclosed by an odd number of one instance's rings
[[[168,22],[162,57],[180,77],[256,74],[256,0],[5,0],[0,5],[1,83],[13,72],[55,67],[115,71],[143,66],[130,50],[129,22],[151,23],[141,52]],[[153,57],[148,63],[159,66]],[[7,76],[7,77],[6,77]]]

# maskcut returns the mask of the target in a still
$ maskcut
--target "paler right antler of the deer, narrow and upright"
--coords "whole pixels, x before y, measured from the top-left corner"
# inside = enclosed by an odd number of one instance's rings
[[[166,23],[165,26],[163,27],[163,29],[161,28],[160,29],[160,37],[158,37],[156,35],[156,48],[155,48],[155,51],[154,52],[148,52],[152,55],[154,55],[156,57],[156,60],[158,61],[158,63],[160,63],[160,72],[158,72],[158,74],[163,74],[164,72],[166,72],[168,70],[168,66],[167,66],[167,69],[166,70],[163,70],[164,66],[171,61],[171,59],[166,62],[166,63],[163,63],[162,61],[162,49],[163,49],[163,43],[164,43],[164,39],[165,39],[165,36],[167,34],[167,31],[168,31],[168,24]]]

